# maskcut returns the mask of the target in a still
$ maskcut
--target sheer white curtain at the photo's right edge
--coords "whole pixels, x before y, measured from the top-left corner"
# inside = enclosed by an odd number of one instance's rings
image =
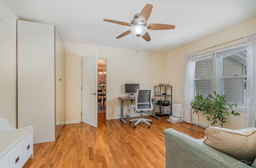
[[[245,37],[245,40],[248,45],[245,126],[248,128],[255,125],[256,117],[256,34]]]

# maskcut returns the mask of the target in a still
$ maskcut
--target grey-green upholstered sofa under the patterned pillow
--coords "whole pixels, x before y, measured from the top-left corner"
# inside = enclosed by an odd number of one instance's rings
[[[255,129],[253,130],[255,132]],[[252,161],[251,166],[248,166],[244,160],[237,160],[208,146],[203,139],[194,139],[172,128],[164,130],[164,136],[166,168],[256,168],[256,159]]]

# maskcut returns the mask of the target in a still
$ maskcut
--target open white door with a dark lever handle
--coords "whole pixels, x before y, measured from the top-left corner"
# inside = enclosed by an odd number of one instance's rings
[[[82,122],[98,127],[98,55],[82,57]]]

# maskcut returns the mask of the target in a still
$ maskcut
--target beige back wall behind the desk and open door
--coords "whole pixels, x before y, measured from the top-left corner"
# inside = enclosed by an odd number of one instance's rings
[[[65,94],[66,123],[81,121],[82,56],[98,53],[106,59],[106,118],[118,119],[119,96],[125,96],[124,83],[140,83],[140,88],[154,89],[156,83],[166,79],[165,55],[128,49],[65,42]],[[112,85],[109,82],[112,81]],[[127,106],[124,102],[124,112]]]

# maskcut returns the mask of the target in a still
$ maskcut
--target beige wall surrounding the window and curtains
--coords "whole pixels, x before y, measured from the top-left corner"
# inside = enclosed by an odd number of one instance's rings
[[[198,52],[198,54],[214,51],[216,49],[228,47],[231,45],[236,45],[239,43],[244,43],[244,37],[256,32],[256,18],[248,20],[242,24],[208,36],[202,40],[191,43],[184,47],[178,48],[166,54],[167,66],[167,77],[170,79],[170,84],[173,86],[173,103],[183,104],[183,77],[185,71],[186,54]],[[242,39],[241,39],[242,38]],[[240,40],[237,40],[240,39]],[[235,41],[234,41],[235,40]],[[233,42],[231,42],[233,41]],[[227,43],[230,42],[230,43]],[[222,43],[226,43],[220,45]],[[218,45],[218,46],[217,46]],[[213,47],[216,46],[216,47]],[[210,49],[207,49],[211,47]],[[207,49],[201,51],[203,49]],[[172,80],[173,79],[173,80]],[[245,127],[245,115],[244,112],[240,116],[232,117],[230,116],[230,123],[224,124],[226,128],[244,128]],[[206,116],[200,116],[200,119],[205,119]],[[206,121],[200,121],[202,123],[207,123]]]

